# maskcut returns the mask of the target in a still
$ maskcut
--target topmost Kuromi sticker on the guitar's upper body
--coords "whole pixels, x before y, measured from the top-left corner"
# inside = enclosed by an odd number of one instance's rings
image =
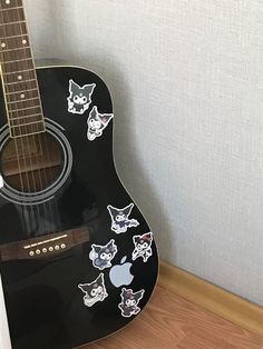
[[[68,111],[82,114],[91,103],[91,94],[96,83],[80,87],[74,80],[69,80]]]

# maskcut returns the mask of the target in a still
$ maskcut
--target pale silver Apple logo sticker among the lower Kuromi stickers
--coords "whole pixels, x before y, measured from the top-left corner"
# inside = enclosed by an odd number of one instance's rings
[[[130,273],[133,263],[126,262],[127,256],[120,260],[120,265],[114,266],[109,271],[109,280],[115,287],[128,286],[134,280],[134,276]]]

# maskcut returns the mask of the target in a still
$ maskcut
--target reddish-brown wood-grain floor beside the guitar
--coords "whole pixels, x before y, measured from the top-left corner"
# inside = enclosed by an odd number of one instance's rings
[[[84,348],[263,349],[263,338],[158,286],[134,322]]]

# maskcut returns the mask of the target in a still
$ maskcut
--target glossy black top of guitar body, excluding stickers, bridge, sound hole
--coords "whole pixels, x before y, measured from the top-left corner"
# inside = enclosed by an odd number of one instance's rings
[[[79,86],[96,83],[92,102],[84,114],[68,112],[70,79]],[[0,243],[84,225],[90,230],[90,241],[52,258],[1,262],[0,269],[13,349],[71,349],[108,336],[135,318],[121,316],[118,308],[121,287],[110,282],[110,268],[100,271],[92,266],[91,243],[106,245],[115,239],[118,252],[111,263],[120,263],[125,256],[133,262],[130,271],[135,278],[126,288],[145,290],[139,301],[142,309],[154,289],[158,260],[154,242],[153,256],[147,262],[142,258],[132,260],[133,236],[149,231],[136,205],[130,218],[138,220],[138,227],[119,235],[110,229],[107,206],[124,208],[132,199],[114,166],[113,120],[101,137],[94,141],[87,139],[87,118],[92,106],[98,106],[100,113],[113,111],[107,87],[92,72],[70,67],[38,69],[38,80],[45,117],[65,129],[71,146],[72,170],[49,203],[23,208],[23,217],[28,215],[35,221],[30,229],[23,225],[21,207],[0,196]],[[0,116],[2,127],[7,122],[3,98]],[[105,276],[108,297],[88,308],[78,285],[94,281],[100,272]]]

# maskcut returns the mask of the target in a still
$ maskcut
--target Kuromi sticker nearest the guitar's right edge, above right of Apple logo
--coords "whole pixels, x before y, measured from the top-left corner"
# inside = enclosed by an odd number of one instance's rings
[[[153,255],[152,252],[152,242],[153,242],[153,232],[146,232],[143,236],[134,236],[134,246],[133,260],[142,257],[144,262],[147,262],[148,258]]]

